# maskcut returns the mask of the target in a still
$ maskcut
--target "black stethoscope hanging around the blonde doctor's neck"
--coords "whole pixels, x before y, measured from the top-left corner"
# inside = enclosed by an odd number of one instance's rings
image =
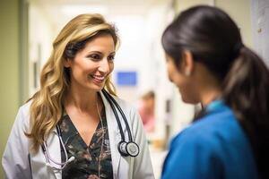
[[[122,108],[117,104],[117,101],[108,93],[107,90],[103,89],[102,92],[103,92],[104,97],[108,100],[108,103],[109,103],[110,107],[112,108],[112,111],[113,111],[113,113],[116,117],[116,120],[117,120],[117,125],[118,125],[120,136],[121,136],[121,141],[119,141],[119,143],[117,144],[118,152],[123,157],[133,157],[133,158],[136,157],[139,154],[140,149],[139,149],[139,146],[137,145],[137,143],[135,143],[133,141],[131,130],[130,130],[129,124],[127,122],[127,119],[126,119],[126,115],[124,114]],[[125,140],[125,134],[123,132],[122,125],[121,125],[119,117],[117,115],[117,111],[120,113],[120,115],[122,115],[123,121],[126,125],[126,130],[128,133],[128,141]],[[43,144],[41,145],[41,148],[42,148],[44,155],[45,155],[45,158],[46,158],[46,162],[47,162],[46,165],[54,167],[54,168],[59,169],[59,170],[62,170],[68,163],[70,163],[74,160],[74,156],[72,156],[71,158],[68,158],[67,151],[65,149],[65,144],[64,144],[64,141],[62,139],[62,132],[60,130],[59,125],[56,125],[56,132],[57,132],[57,136],[58,136],[59,141],[60,141],[60,145],[65,152],[65,161],[64,162],[57,162],[55,159],[51,158],[49,151],[48,151],[48,145],[47,145],[46,141],[43,142]],[[56,166],[59,166],[59,167],[52,166],[51,163],[54,163],[54,164],[56,164]]]

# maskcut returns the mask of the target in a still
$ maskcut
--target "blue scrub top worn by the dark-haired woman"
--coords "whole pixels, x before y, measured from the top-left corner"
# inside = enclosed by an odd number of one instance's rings
[[[256,179],[250,143],[230,107],[221,100],[170,143],[162,179]]]

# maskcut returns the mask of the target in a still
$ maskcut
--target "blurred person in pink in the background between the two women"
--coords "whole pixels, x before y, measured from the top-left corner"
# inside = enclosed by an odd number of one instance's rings
[[[143,121],[143,127],[146,132],[153,132],[155,128],[155,94],[154,92],[148,91],[143,94],[138,103],[138,112]]]

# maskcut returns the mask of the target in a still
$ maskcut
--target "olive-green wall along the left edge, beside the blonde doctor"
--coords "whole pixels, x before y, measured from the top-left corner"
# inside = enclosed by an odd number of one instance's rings
[[[0,156],[20,105],[19,88],[19,0],[0,4]],[[0,169],[0,178],[4,178]]]

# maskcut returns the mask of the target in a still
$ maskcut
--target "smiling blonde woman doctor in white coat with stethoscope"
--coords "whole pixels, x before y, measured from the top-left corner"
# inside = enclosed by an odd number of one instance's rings
[[[6,178],[154,178],[140,116],[109,80],[117,44],[100,14],[65,25],[13,124]]]

